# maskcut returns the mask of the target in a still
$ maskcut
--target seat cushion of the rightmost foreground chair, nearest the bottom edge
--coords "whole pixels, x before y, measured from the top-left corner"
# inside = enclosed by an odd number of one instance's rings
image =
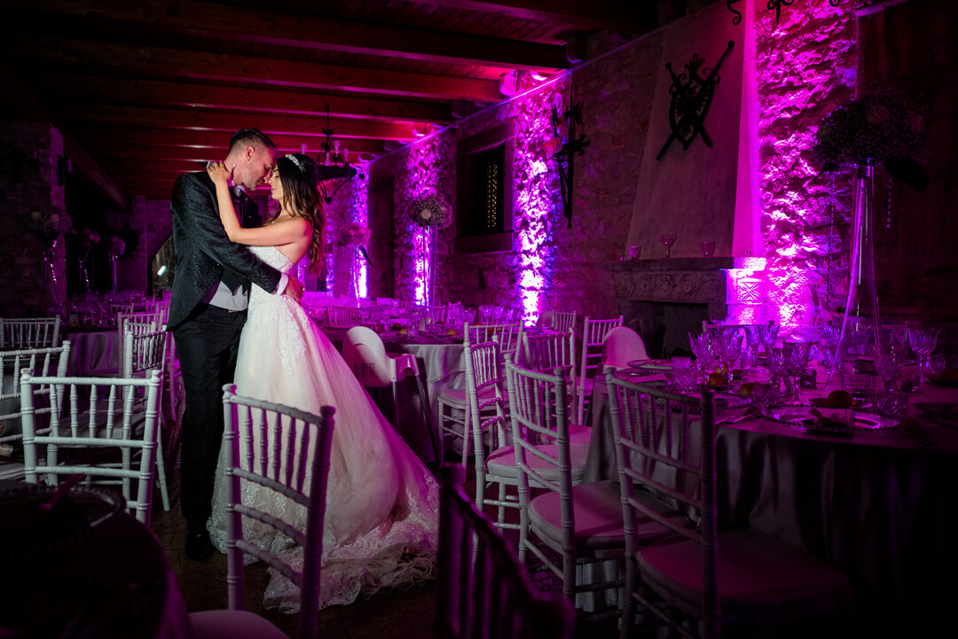
[[[687,612],[701,609],[702,552],[693,540],[652,543],[636,555],[643,581]],[[719,533],[719,608],[723,622],[787,621],[851,605],[848,577],[803,548],[755,530]]]

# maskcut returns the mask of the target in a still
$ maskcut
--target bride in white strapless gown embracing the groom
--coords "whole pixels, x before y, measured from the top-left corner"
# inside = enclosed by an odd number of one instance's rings
[[[315,165],[306,155],[280,158],[270,179],[279,203],[258,229],[239,227],[230,197],[230,170],[207,169],[217,186],[219,216],[230,240],[249,245],[267,264],[289,273],[308,255],[322,259],[323,219]],[[239,341],[237,393],[319,414],[336,408],[323,535],[320,606],[346,605],[360,592],[429,579],[438,543],[438,488],[419,457],[399,438],[366,389],[302,307],[286,296],[253,287]],[[257,495],[243,484],[243,501],[298,525],[306,510],[284,498]],[[220,552],[226,548],[225,482],[217,470],[208,527]],[[252,493],[252,494],[250,494]],[[243,521],[243,537],[263,548],[299,554],[285,536],[257,521]],[[295,587],[270,569],[264,605],[298,609]]]

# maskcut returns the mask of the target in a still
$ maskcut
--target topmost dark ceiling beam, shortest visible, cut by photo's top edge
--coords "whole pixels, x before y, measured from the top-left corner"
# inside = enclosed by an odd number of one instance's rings
[[[583,28],[648,33],[658,27],[658,0],[416,0],[423,5],[511,15]]]

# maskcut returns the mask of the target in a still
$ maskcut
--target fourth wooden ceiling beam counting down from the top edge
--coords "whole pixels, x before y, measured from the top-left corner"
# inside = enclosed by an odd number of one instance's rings
[[[399,120],[446,124],[453,121],[447,104],[403,99],[275,91],[248,87],[214,86],[80,74],[38,73],[34,83],[44,87],[44,97],[107,103],[140,103],[238,111],[282,113],[298,116],[359,120]]]

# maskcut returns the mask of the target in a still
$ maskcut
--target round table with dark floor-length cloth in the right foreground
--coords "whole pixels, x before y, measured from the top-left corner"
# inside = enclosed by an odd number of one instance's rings
[[[827,394],[805,389],[799,403]],[[618,479],[604,380],[592,402],[586,481]],[[719,425],[719,527],[804,547],[844,571],[869,606],[902,615],[950,604],[958,595],[958,423],[928,414],[954,416],[955,407],[956,388],[923,384],[912,394],[908,416],[924,437],[812,434],[764,417]],[[743,410],[717,409],[716,420]]]

